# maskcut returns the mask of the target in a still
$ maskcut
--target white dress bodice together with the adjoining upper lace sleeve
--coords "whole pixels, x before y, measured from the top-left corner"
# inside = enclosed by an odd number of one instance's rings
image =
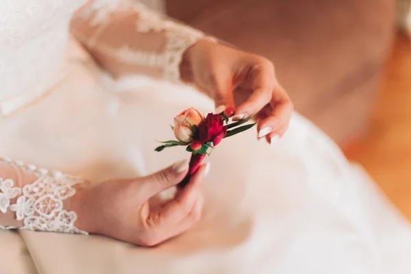
[[[184,51],[203,36],[136,0],[2,0],[0,119],[64,77],[71,33],[114,76],[171,80],[179,79]]]

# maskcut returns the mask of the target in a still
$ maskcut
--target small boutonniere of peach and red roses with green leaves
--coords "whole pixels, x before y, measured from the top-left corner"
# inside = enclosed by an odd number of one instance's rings
[[[195,108],[188,108],[175,117],[172,128],[177,140],[161,142],[163,145],[157,147],[155,151],[162,151],[166,147],[185,146],[186,151],[192,153],[188,174],[179,184],[180,187],[184,187],[188,183],[190,176],[199,169],[206,155],[210,155],[212,149],[219,145],[223,138],[234,136],[256,125],[256,123],[243,125],[252,116],[235,123],[229,123],[229,119],[233,115],[234,109],[227,108],[221,113],[209,113],[204,118]]]

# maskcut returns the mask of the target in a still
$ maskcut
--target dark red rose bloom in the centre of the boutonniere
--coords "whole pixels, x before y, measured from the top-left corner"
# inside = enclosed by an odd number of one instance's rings
[[[223,140],[227,133],[227,127],[224,126],[224,120],[220,114],[209,113],[204,121],[197,125],[199,141],[212,142],[214,146]]]

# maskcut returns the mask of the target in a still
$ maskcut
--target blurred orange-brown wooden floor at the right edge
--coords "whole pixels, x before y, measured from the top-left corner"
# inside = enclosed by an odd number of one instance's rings
[[[369,134],[345,149],[411,220],[411,42],[399,34]]]

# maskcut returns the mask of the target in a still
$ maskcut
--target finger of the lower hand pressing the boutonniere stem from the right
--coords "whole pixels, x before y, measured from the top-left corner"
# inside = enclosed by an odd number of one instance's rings
[[[192,175],[187,186],[177,194],[177,197],[159,210],[158,214],[153,214],[153,216],[158,218],[153,223],[159,229],[176,225],[186,218],[187,214],[191,212],[194,203],[202,195],[203,178],[207,175],[209,169],[209,163],[201,165],[199,170]]]

